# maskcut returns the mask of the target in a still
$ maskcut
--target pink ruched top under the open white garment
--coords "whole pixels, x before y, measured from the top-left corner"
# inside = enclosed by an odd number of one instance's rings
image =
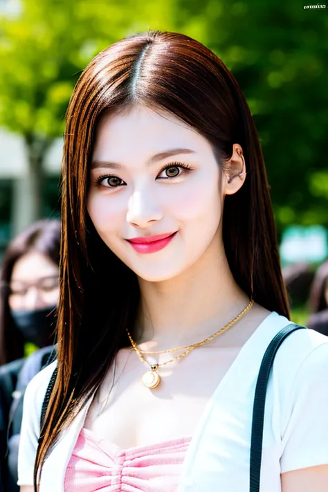
[[[176,492],[191,437],[122,449],[82,428],[64,480],[65,492]]]

